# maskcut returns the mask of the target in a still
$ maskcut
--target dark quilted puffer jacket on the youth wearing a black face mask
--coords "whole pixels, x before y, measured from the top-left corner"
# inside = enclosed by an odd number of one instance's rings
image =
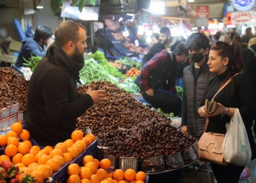
[[[209,71],[206,59],[204,64],[200,66],[200,72],[195,81],[194,68],[195,63],[192,62],[183,70],[184,89],[181,124],[188,126],[189,135],[200,137],[204,133],[205,119],[198,117],[196,107],[200,105],[207,83],[214,76],[214,73]]]

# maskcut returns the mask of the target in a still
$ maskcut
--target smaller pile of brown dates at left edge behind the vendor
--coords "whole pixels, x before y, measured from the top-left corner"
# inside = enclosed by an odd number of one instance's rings
[[[24,76],[11,68],[0,70],[0,110],[23,103],[20,110],[26,109],[28,99],[28,82]]]

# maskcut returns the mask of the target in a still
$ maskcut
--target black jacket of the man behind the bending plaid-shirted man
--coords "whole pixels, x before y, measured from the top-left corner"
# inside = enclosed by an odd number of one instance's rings
[[[173,39],[172,41],[175,41],[175,43],[173,43],[173,45],[171,46],[171,50],[168,51],[173,51],[174,48],[179,45],[180,41]],[[157,53],[161,52],[162,50],[164,50],[165,47],[163,44],[160,43],[160,41],[156,44],[153,45],[152,48],[150,48],[150,50],[148,51],[148,53],[143,57],[142,59],[142,66],[147,63],[148,61],[150,61],[150,59],[152,59],[152,57],[154,57],[154,55],[156,55]]]

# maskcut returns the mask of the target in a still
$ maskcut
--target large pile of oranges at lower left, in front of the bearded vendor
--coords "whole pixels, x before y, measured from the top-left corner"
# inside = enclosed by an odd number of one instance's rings
[[[32,145],[29,137],[29,132],[22,128],[20,122],[12,124],[11,131],[6,135],[0,135],[0,147],[6,146],[5,154],[0,156],[0,163],[12,159],[14,165],[19,166],[20,172],[33,175],[39,183],[57,172],[65,163],[79,156],[95,140],[94,135],[84,136],[83,131],[75,130],[71,138],[65,142],[58,143],[55,147],[48,145],[41,149],[38,145]],[[92,163],[84,166],[88,170],[87,166],[97,170]],[[83,176],[88,177],[85,174]],[[41,179],[42,177],[44,179]]]

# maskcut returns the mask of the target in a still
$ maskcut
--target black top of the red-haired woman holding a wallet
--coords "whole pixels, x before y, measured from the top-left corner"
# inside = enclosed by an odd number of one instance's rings
[[[218,76],[213,77],[210,80],[200,106],[204,106],[205,99],[211,100],[214,94],[216,94],[220,88],[219,86],[214,87],[216,82],[218,82]],[[254,96],[253,85],[250,80],[248,80],[248,77],[244,74],[240,74],[232,78],[232,81],[216,95],[214,101],[221,103],[226,107],[239,109],[252,149],[252,159],[255,159],[256,145],[252,135],[250,120],[252,120],[256,113],[256,99]],[[231,117],[228,115],[225,115],[222,118],[221,115],[210,117],[207,131],[225,134],[227,132],[225,124],[230,122],[230,119]]]

